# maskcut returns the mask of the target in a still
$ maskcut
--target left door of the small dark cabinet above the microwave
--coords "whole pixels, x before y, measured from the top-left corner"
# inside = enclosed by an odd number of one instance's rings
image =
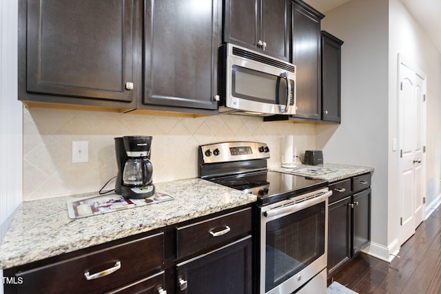
[[[258,50],[260,40],[260,1],[225,0],[223,41]]]

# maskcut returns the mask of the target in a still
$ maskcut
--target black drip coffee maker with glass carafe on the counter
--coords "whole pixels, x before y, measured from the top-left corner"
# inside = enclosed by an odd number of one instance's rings
[[[152,136],[124,136],[114,139],[118,164],[115,193],[136,199],[154,196],[153,166],[150,162]]]

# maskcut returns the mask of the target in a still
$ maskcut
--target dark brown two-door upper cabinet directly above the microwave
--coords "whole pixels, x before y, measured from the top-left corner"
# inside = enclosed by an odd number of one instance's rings
[[[291,61],[289,0],[225,0],[224,9],[225,43],[234,43],[283,61]]]

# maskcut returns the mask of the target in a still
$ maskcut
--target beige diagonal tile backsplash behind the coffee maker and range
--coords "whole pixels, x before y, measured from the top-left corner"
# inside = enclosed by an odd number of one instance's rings
[[[285,135],[298,155],[316,147],[316,126],[264,123],[254,116],[199,118],[23,107],[23,200],[98,191],[116,176],[114,137],[153,136],[153,181],[198,176],[198,145],[253,140],[269,145],[269,167],[280,165]],[[73,140],[89,142],[89,160],[72,163]],[[105,188],[113,189],[114,182]]]

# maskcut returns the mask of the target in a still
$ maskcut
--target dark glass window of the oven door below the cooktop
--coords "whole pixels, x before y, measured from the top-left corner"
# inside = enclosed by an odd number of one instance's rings
[[[320,202],[267,222],[266,291],[325,254],[325,218],[325,202]]]

